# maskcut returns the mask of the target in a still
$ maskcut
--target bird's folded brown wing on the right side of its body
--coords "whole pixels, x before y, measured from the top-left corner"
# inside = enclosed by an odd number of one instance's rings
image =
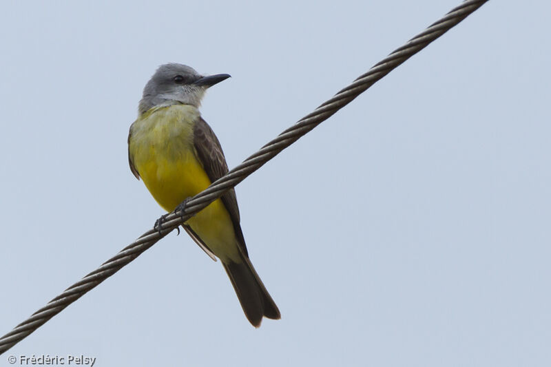
[[[201,117],[198,118],[194,126],[194,147],[197,158],[199,162],[201,162],[211,182],[227,174],[228,165],[220,142],[209,124]],[[229,213],[231,222],[233,222],[233,231],[236,233],[241,251],[245,256],[248,256],[245,238],[243,238],[243,233],[239,224],[240,217],[236,191],[233,188],[229,189],[220,199],[222,199],[222,203]]]

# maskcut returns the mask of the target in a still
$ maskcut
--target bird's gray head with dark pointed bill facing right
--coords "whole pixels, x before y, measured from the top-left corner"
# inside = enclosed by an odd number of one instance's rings
[[[227,78],[228,74],[202,76],[192,67],[177,63],[160,65],[143,88],[139,112],[176,103],[199,107],[205,91]]]

